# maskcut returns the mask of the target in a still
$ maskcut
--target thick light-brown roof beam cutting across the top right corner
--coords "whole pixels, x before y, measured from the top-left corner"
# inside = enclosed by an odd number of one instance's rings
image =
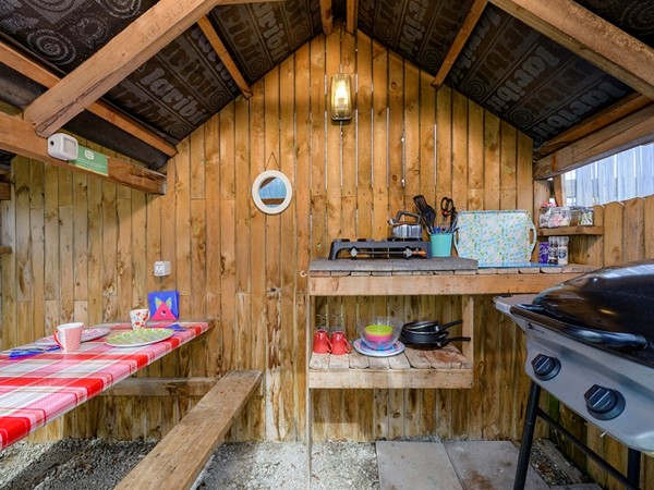
[[[654,100],[654,49],[572,0],[491,0]]]

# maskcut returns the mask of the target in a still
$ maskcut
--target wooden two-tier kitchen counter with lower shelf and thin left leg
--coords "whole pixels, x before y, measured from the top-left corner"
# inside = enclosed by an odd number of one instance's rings
[[[305,331],[307,481],[312,467],[312,390],[470,389],[474,381],[474,295],[540,293],[593,269],[596,267],[576,265],[477,269],[471,267],[470,259],[456,257],[313,260],[308,267]],[[461,342],[461,351],[453,345],[436,351],[407,347],[391,357],[368,357],[356,352],[332,356],[311,351],[316,296],[420,295],[461,296],[461,335],[471,339]]]

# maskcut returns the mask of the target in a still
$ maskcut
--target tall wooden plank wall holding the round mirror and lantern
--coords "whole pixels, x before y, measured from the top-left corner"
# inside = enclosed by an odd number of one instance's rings
[[[330,121],[329,77],[353,76],[355,118]],[[533,209],[531,140],[433,75],[365,35],[317,36],[179,145],[168,193],[152,197],[40,162],[13,162],[14,197],[1,203],[2,346],[49,333],[58,322],[125,318],[148,291],[177,289],[184,317],[211,317],[205,339],[148,369],[149,376],[265,371],[232,439],[302,440],[303,271],[337,237],[382,238],[387,219],[424,194],[458,208]],[[274,156],[274,158],[270,158]],[[279,166],[293,200],[259,212],[250,186]],[[155,260],[172,273],[155,278]],[[518,438],[526,377],[521,333],[491,297],[475,299],[472,390],[320,391],[316,440],[438,436]],[[355,318],[460,317],[456,296],[318,302],[354,336]],[[161,437],[193,405],[186,399],[99,397],[38,437]]]

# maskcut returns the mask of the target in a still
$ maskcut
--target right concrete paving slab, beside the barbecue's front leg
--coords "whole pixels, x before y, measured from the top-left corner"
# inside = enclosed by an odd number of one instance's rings
[[[513,488],[518,449],[509,441],[452,441],[444,445],[463,488]],[[530,467],[525,488],[548,490],[549,486]]]

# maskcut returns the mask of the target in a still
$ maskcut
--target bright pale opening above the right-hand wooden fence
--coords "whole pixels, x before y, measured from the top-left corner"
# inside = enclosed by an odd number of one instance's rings
[[[562,175],[567,206],[593,206],[654,194],[654,144],[631,148]]]

